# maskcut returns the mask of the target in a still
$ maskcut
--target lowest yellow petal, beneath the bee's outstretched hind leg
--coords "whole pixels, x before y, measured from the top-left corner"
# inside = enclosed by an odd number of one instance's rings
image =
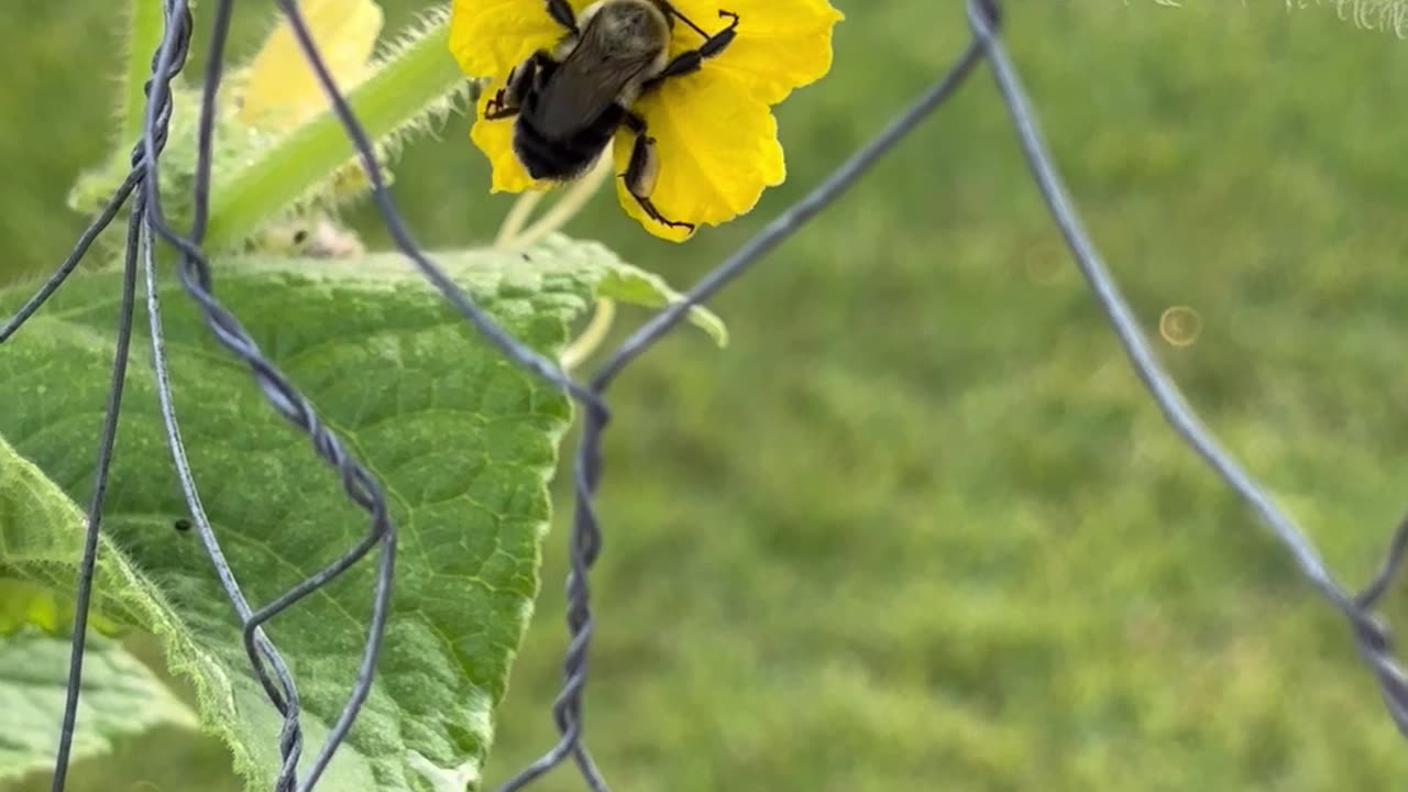
[[[758,204],[763,189],[787,175],[777,121],[746,82],[729,73],[698,72],[672,80],[667,90],[643,97],[635,110],[655,138],[659,172],[650,203],[666,218],[718,225]],[[615,137],[617,197],[646,231],[676,242],[690,237],[650,220],[625,189],[635,135]]]

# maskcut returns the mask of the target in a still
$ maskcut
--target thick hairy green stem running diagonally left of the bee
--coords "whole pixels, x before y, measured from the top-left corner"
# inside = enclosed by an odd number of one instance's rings
[[[372,141],[414,124],[466,85],[448,42],[449,25],[441,18],[348,93],[348,103]],[[248,238],[283,207],[327,183],[353,156],[352,141],[329,107],[225,179],[217,176],[207,244],[225,248]]]

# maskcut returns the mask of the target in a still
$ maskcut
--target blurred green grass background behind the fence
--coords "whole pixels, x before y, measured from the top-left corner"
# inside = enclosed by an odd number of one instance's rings
[[[386,6],[394,31],[424,0]],[[604,192],[569,233],[683,286],[966,38],[957,3],[836,6],[834,70],[777,110],[788,180],[753,214],[672,245]],[[241,8],[248,51],[265,6]],[[0,275],[51,268],[83,224],[63,196],[110,142],[114,13],[0,6],[23,31]],[[1146,331],[1201,317],[1163,359],[1366,581],[1408,506],[1408,42],[1277,0],[1012,1],[1007,41]],[[429,247],[487,241],[511,202],[466,128],[396,168]],[[1345,624],[1139,389],[986,69],[715,307],[729,349],[679,333],[612,397],[587,724],[615,789],[1402,788]],[[555,737],[560,502],[489,785]],[[70,785],[235,788],[218,743],[175,733]],[[535,789],[580,788],[563,768]]]

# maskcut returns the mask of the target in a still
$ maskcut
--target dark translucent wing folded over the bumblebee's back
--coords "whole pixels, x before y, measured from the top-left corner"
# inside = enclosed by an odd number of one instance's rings
[[[579,47],[558,66],[538,99],[539,131],[560,140],[584,130],[653,59],[638,54],[600,55]]]

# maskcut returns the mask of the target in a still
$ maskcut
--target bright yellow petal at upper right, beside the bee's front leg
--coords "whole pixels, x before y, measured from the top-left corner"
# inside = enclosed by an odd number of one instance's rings
[[[708,32],[728,25],[724,8],[738,14],[738,35],[705,70],[727,70],[753,83],[769,104],[794,87],[821,79],[831,69],[831,32],[845,16],[828,0],[672,0],[689,20]],[[676,23],[670,52],[698,48],[703,39]]]

